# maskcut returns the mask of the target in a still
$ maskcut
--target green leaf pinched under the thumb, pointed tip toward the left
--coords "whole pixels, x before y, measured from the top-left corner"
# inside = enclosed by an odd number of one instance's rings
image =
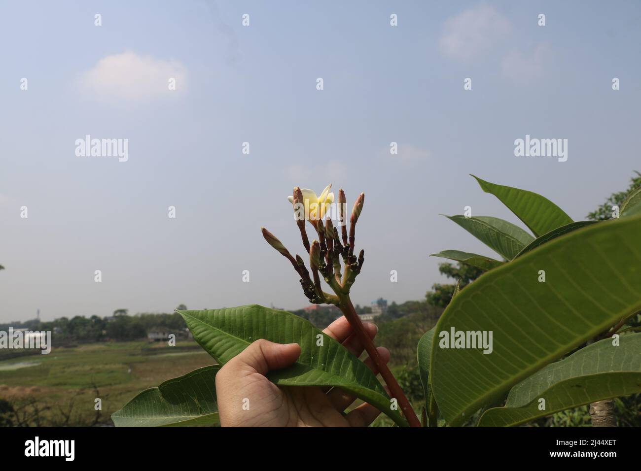
[[[390,398],[365,363],[302,317],[257,304],[178,313],[196,342],[223,365],[259,338],[298,343],[301,356],[291,367],[269,372],[273,383],[341,388],[369,402],[397,424],[407,426],[399,411],[390,409]],[[319,335],[321,346],[317,345]]]

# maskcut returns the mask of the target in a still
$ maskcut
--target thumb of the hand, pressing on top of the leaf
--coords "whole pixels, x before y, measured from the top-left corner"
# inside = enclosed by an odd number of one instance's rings
[[[263,376],[270,370],[285,368],[294,363],[301,355],[297,343],[274,343],[261,338],[235,356],[232,361],[240,370],[260,373]]]

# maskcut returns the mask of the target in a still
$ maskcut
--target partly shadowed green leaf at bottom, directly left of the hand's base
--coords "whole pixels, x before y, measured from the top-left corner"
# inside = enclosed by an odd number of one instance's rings
[[[147,389],[112,414],[116,427],[212,425],[218,422],[215,376],[220,365],[199,368]]]

